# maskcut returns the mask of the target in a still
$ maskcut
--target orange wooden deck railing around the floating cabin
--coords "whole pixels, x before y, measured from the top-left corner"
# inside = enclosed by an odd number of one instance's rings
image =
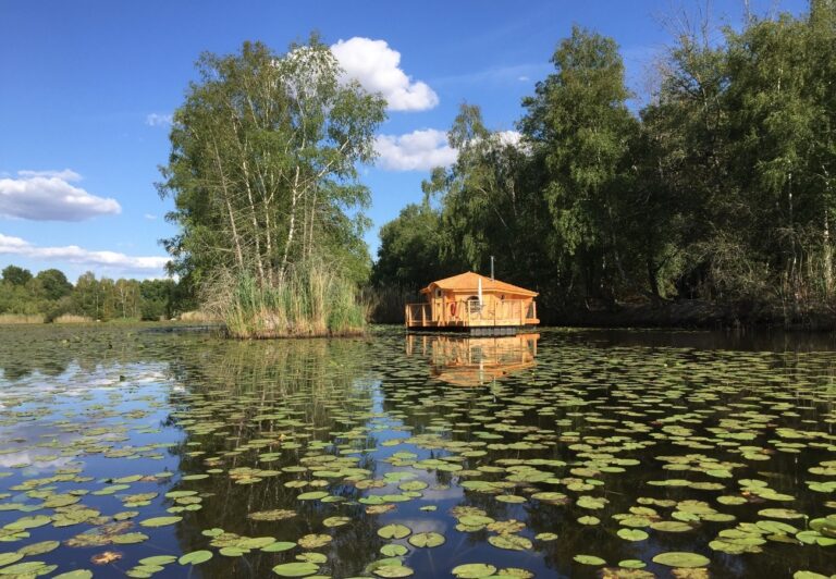
[[[445,301],[433,311],[432,305],[407,304],[405,308],[408,328],[439,325],[527,325],[538,323],[537,305],[527,299],[503,299],[479,304],[476,299]]]

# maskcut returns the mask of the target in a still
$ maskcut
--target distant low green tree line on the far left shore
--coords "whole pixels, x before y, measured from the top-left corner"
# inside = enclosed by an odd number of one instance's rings
[[[58,269],[33,275],[8,266],[0,278],[0,316],[39,316],[51,322],[61,316],[89,320],[170,319],[195,307],[174,280],[128,280],[82,274],[75,284]]]

